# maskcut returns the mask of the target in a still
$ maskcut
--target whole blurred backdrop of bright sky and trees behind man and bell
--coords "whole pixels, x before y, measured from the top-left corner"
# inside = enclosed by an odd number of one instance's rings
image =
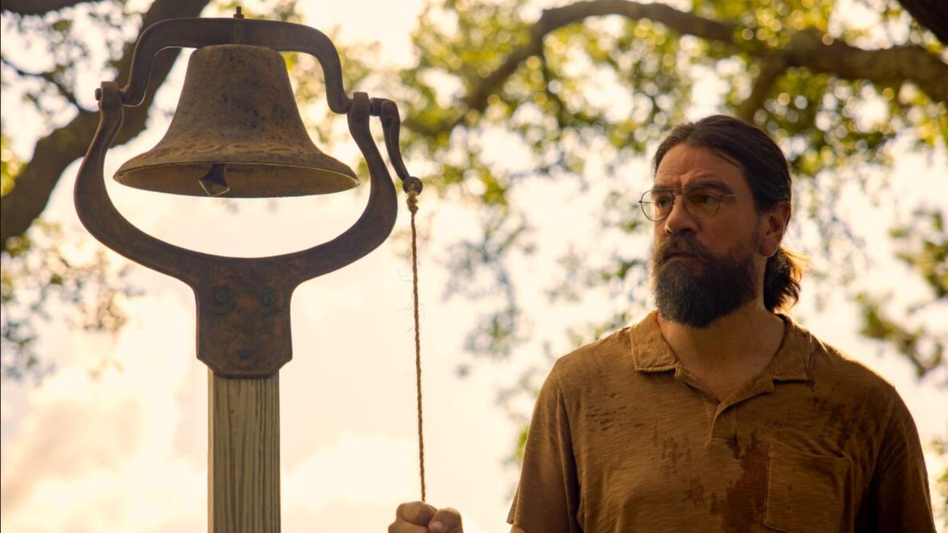
[[[398,102],[419,214],[428,500],[506,531],[520,445],[553,361],[651,307],[636,200],[673,124],[753,121],[790,158],[786,245],[811,257],[791,315],[899,390],[939,527],[948,498],[948,28],[918,0],[242,2],[319,28],[349,94]],[[72,186],[93,93],[143,25],[233,2],[3,0],[2,465],[9,532],[207,524],[208,371],[190,289],[102,248]],[[930,8],[929,8],[930,9]],[[943,15],[943,13],[942,13]],[[173,115],[188,51],[125,122],[106,175]],[[315,59],[284,54],[320,148],[367,178]],[[377,124],[374,124],[377,126]],[[379,146],[380,130],[376,128]],[[264,256],[335,237],[363,185],[228,200],[109,181],[186,248]],[[297,289],[281,371],[283,527],[384,531],[420,497],[408,213],[368,257]]]

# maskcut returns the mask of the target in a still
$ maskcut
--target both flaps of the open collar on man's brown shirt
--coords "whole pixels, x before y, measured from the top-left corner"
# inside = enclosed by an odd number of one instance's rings
[[[783,341],[767,369],[775,381],[806,381],[810,358],[810,333],[786,315],[778,315],[786,324]],[[639,372],[666,372],[678,367],[678,358],[662,337],[658,311],[629,329],[632,363]]]

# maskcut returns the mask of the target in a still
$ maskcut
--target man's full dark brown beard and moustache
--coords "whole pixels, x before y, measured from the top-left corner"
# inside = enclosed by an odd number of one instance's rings
[[[668,261],[676,252],[687,259]],[[696,272],[696,267],[699,270]],[[757,297],[757,276],[748,253],[719,258],[693,237],[669,235],[651,257],[652,294],[662,317],[703,328]]]

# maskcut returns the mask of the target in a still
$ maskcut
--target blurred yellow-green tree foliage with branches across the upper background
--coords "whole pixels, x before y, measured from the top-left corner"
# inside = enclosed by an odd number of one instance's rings
[[[29,229],[95,128],[89,95],[73,89],[80,73],[127,78],[141,28],[195,16],[207,4],[158,0],[141,14],[107,1],[3,5],[5,31],[41,37],[50,60],[49,68],[32,71],[20,58],[3,58],[5,88],[21,91],[50,130],[36,142],[30,160],[9,165],[4,160],[5,265],[19,257],[14,252],[31,249],[24,247]],[[214,8],[226,13],[230,4]],[[299,20],[294,2],[272,8],[266,9],[270,18]],[[859,11],[868,23],[851,24],[854,17],[844,9]],[[611,176],[623,175],[629,160],[646,155],[665,129],[689,117],[696,105],[753,121],[777,139],[797,178],[796,210],[809,215],[826,237],[821,249],[807,251],[830,263],[868,261],[851,231],[853,221],[836,214],[840,193],[858,183],[862,193],[883,196],[887,183],[870,179],[873,170],[891,167],[905,147],[943,154],[948,138],[948,83],[943,82],[948,65],[936,37],[939,13],[919,12],[922,18],[916,20],[900,4],[882,0],[694,0],[675,6],[589,0],[547,9],[529,0],[444,0],[431,2],[419,19],[412,36],[415,64],[373,72],[365,64],[371,46],[356,46],[343,50],[344,72],[349,90],[374,84],[394,92],[407,106],[410,157],[433,164],[430,184],[483,212],[481,238],[459,242],[449,254],[453,278],[447,293],[496,302],[466,346],[505,356],[524,338],[526,315],[517,301],[510,258],[532,251],[532,221],[516,192],[535,179],[579,184],[608,179],[613,190],[603,209],[603,233],[639,232],[643,226],[629,209],[628,180]],[[90,51],[81,38],[89,28],[105,36],[107,57]],[[127,112],[119,143],[144,128],[155,89],[175,56],[159,54],[148,100]],[[295,54],[287,56],[287,64],[300,72],[314,66],[312,58]],[[319,100],[320,91],[319,83],[301,83],[298,96],[305,104]],[[337,140],[337,122],[328,117],[314,122],[323,144]],[[498,135],[511,138],[510,149],[529,164],[512,166],[485,150]],[[884,309],[883,292],[860,286],[852,288],[851,297],[864,309],[863,333],[888,341],[921,376],[941,364],[943,328],[906,326],[889,317],[923,317],[944,299],[939,243],[943,247],[945,230],[938,223],[944,206],[912,209],[928,213],[913,219],[928,224],[926,236],[908,226],[894,228],[892,238],[901,243],[902,261],[930,286],[928,304]],[[641,257],[616,252],[594,265],[579,260],[585,251],[573,248],[564,255],[568,275],[564,284],[551,287],[552,299],[572,295],[575,300],[584,290],[608,286],[629,302],[642,300],[646,262]],[[13,294],[17,276],[8,272]],[[845,272],[817,268],[814,274],[822,283],[851,286]],[[592,323],[588,332],[627,322],[634,311]],[[588,337],[579,331],[575,341]]]

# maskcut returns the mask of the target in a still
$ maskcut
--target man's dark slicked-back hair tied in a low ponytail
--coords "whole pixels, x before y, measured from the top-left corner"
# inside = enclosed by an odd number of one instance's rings
[[[652,160],[658,172],[662,158],[679,144],[707,148],[738,162],[754,193],[757,211],[771,211],[777,204],[791,205],[793,187],[787,158],[767,134],[743,120],[712,115],[672,128]],[[803,256],[780,247],[767,259],[764,269],[764,306],[775,312],[789,309],[799,299]]]

